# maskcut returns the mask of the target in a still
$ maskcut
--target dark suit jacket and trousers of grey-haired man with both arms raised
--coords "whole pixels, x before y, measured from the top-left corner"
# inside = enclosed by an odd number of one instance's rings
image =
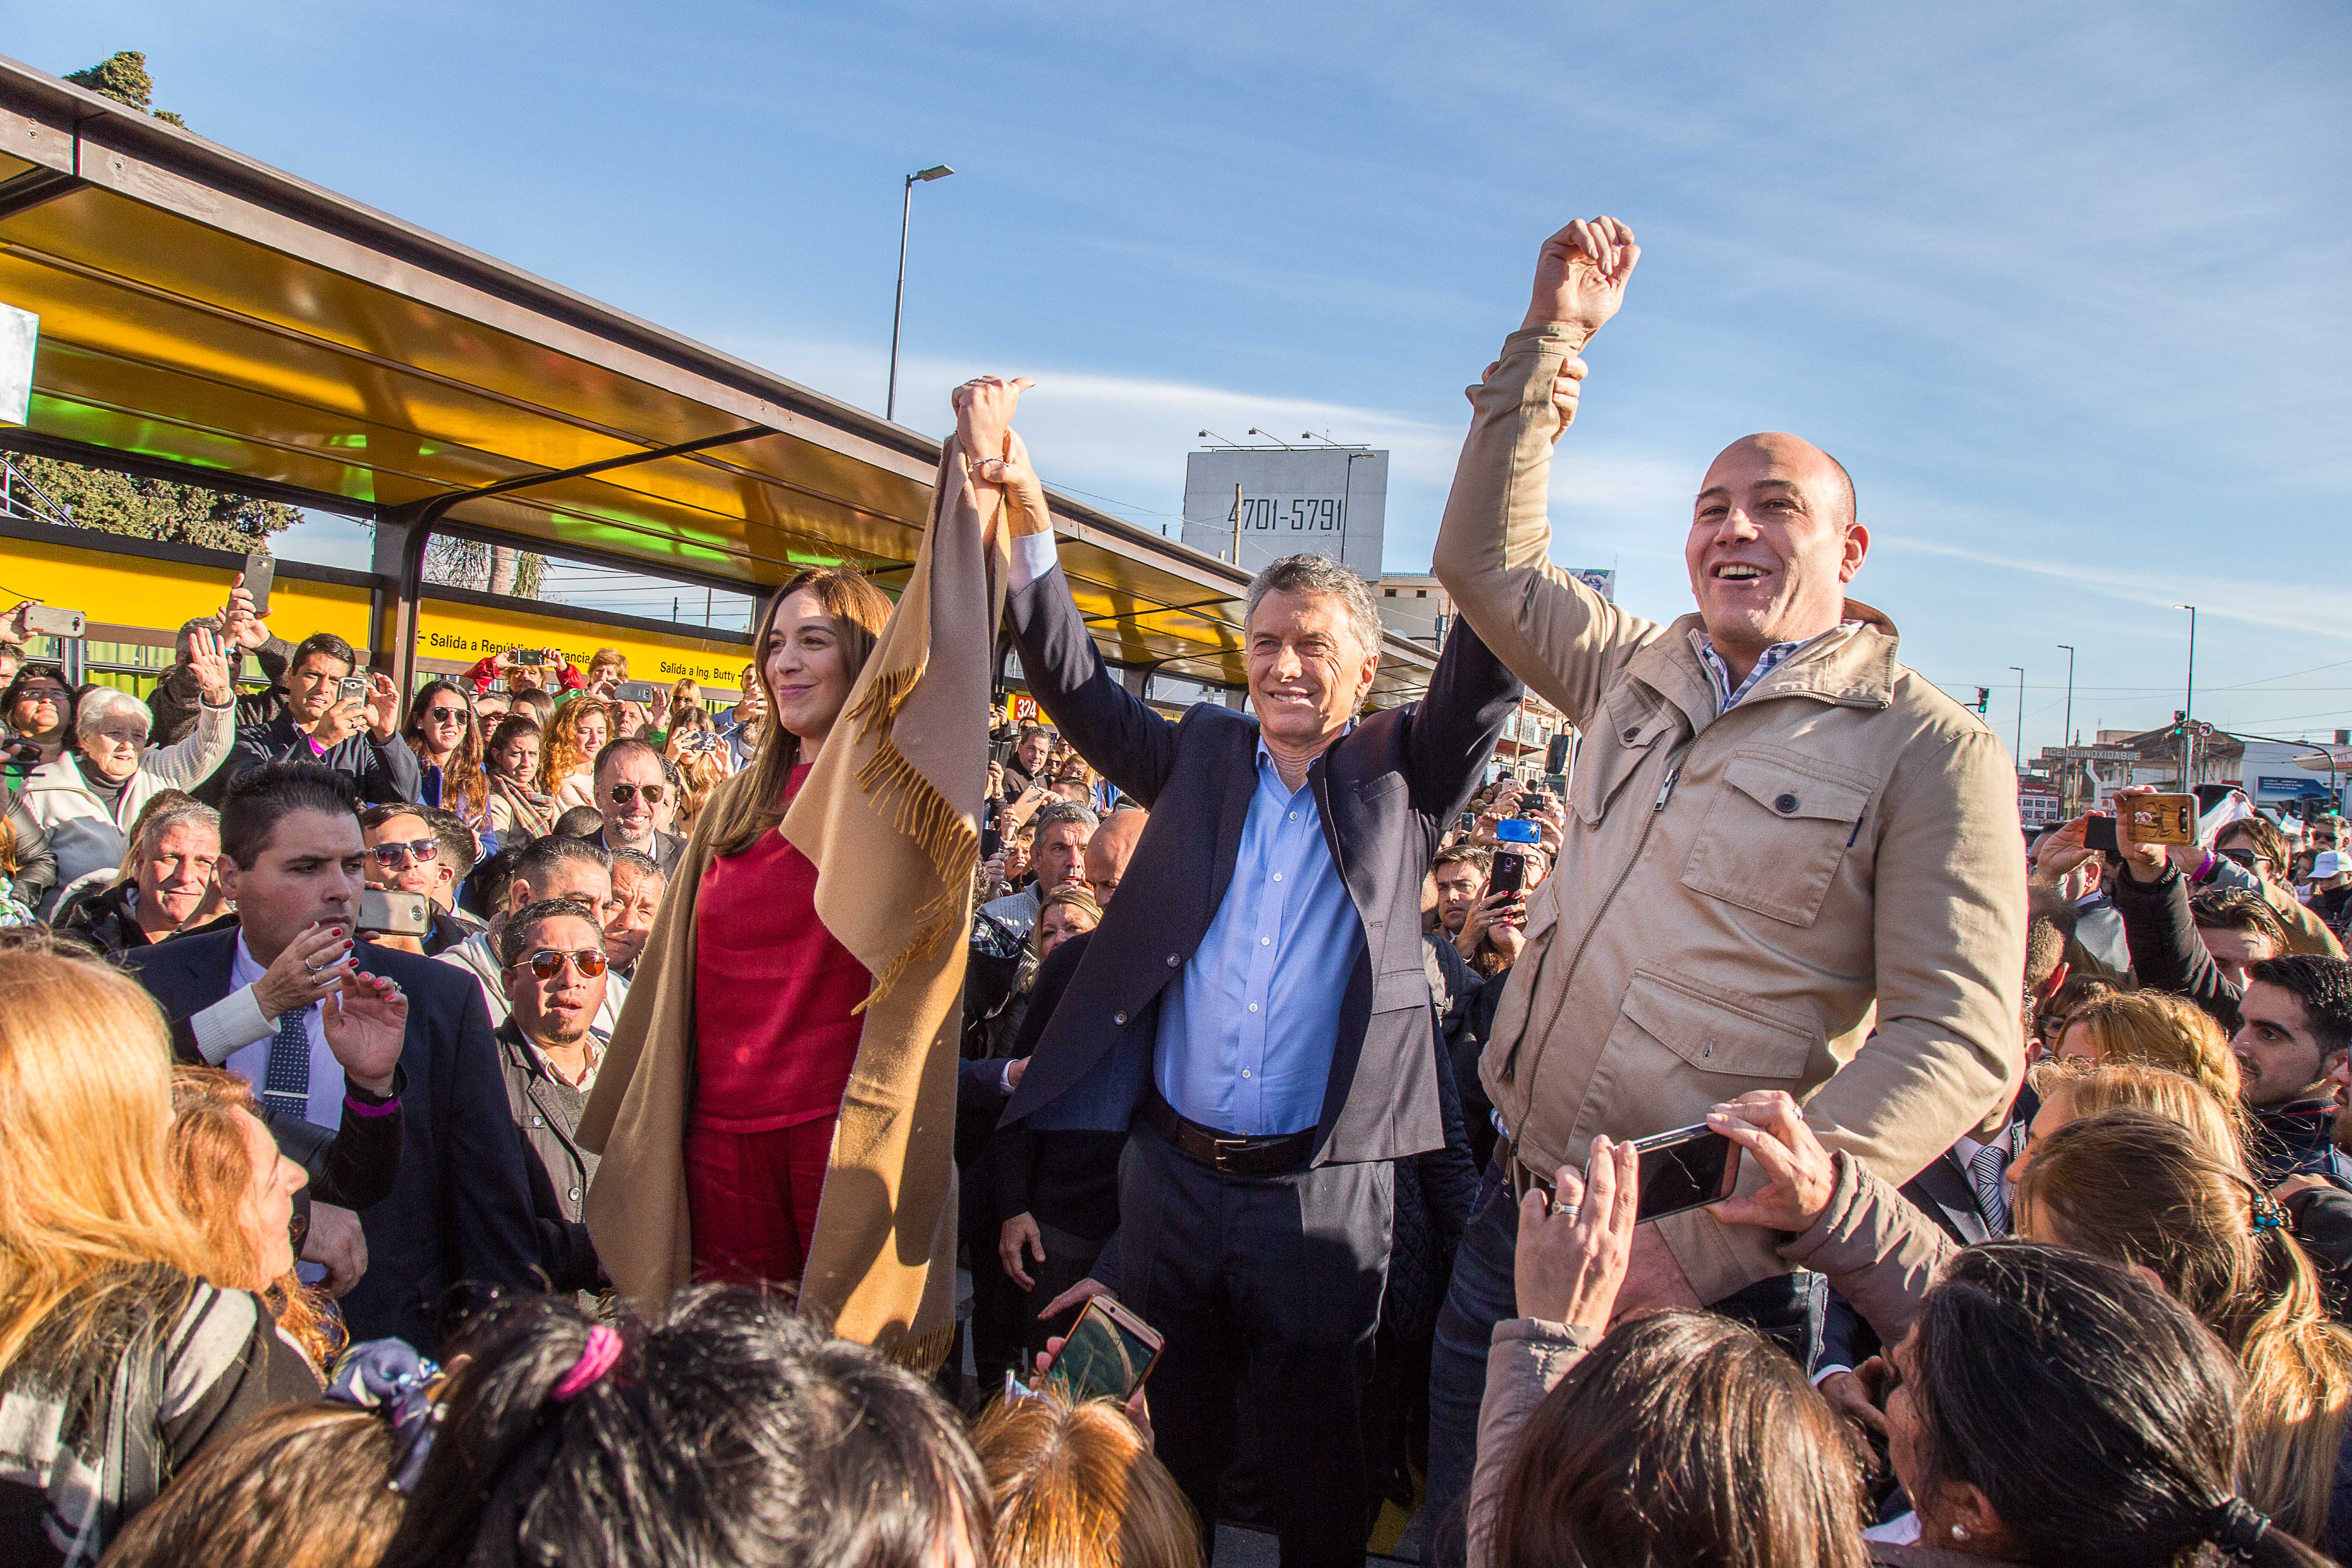
[[[1258,726],[1209,703],[1178,722],[1145,708],[1103,665],[1058,567],[1007,609],[1040,705],[1152,816],[1004,1119],[1124,1133],[1155,1093],[1162,992],[1235,879],[1258,790]],[[1160,1453],[1214,1528],[1235,1396],[1247,1387],[1254,1448],[1279,1465],[1270,1507],[1284,1563],[1364,1554],[1374,1497],[1362,1401],[1388,1272],[1392,1161],[1446,1143],[1421,882],[1517,701],[1517,679],[1456,623],[1428,698],[1364,717],[1308,771],[1362,940],[1345,973],[1329,976],[1341,1011],[1305,1166],[1218,1171],[1141,1121],[1122,1157],[1120,1232],[1096,1276],[1167,1335],[1150,1385]]]

